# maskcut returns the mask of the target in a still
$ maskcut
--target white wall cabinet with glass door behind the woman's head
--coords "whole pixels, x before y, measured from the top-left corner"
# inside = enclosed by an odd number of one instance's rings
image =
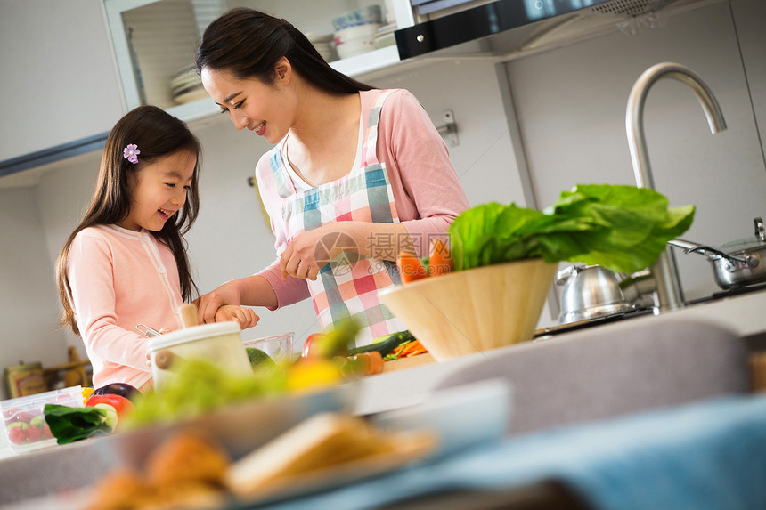
[[[194,50],[208,23],[232,7],[247,6],[289,20],[312,41],[331,36],[332,20],[340,14],[372,4],[381,6],[384,26],[413,24],[408,0],[104,0],[104,4],[127,108],[156,104],[186,121],[220,111],[200,88]],[[399,54],[393,36],[387,41],[389,45],[368,53],[342,60],[336,54],[328,61],[349,76],[393,66]]]

